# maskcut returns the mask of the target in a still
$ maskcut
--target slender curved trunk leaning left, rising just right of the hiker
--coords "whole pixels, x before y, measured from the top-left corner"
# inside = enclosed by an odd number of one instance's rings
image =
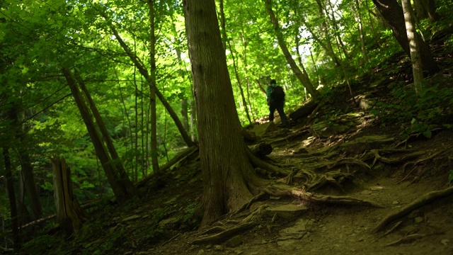
[[[285,58],[286,58],[286,60],[287,60],[287,62],[289,64],[289,66],[291,67],[292,72],[294,72],[294,74],[296,75],[297,79],[299,79],[299,81],[302,83],[302,85],[304,85],[304,87],[306,87],[306,90],[309,91],[309,94],[313,98],[318,98],[320,96],[319,91],[317,91],[314,88],[313,84],[311,84],[311,81],[310,81],[310,79],[308,77],[308,74],[306,74],[306,72],[302,72],[299,69],[299,67],[297,67],[296,62],[294,62],[294,60],[292,59],[292,55],[289,52],[289,50],[288,50],[288,48],[286,46],[285,40],[283,38],[282,31],[280,30],[280,27],[278,26],[277,18],[275,17],[275,14],[274,14],[274,12],[273,12],[273,10],[271,8],[270,0],[265,0],[264,3],[265,3],[266,11],[268,11],[268,14],[269,14],[269,17],[270,17],[270,22],[274,26],[274,30],[275,30],[275,33],[277,35],[278,44],[280,45],[280,48],[282,49],[283,55],[285,55]]]

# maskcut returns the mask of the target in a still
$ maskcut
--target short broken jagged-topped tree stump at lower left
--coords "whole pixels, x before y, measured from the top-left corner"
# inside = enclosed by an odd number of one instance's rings
[[[71,171],[62,157],[52,159],[54,175],[54,198],[57,210],[57,220],[64,233],[69,237],[81,229],[85,217],[72,192]]]

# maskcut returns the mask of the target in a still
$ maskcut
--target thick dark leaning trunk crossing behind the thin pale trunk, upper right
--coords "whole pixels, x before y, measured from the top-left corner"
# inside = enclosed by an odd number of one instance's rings
[[[394,37],[399,45],[403,47],[404,52],[408,57],[411,57],[411,49],[406,34],[406,26],[404,22],[403,8],[398,5],[396,0],[373,0],[379,12],[386,19],[394,33]],[[415,33],[415,40],[420,46],[420,57],[422,60],[423,70],[429,74],[435,74],[440,71],[434,58],[431,55],[428,45],[421,40],[420,35]]]

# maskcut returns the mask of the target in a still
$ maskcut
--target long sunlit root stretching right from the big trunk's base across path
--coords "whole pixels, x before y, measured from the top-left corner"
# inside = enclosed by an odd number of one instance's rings
[[[328,196],[306,192],[299,188],[290,186],[268,186],[264,189],[265,193],[271,196],[292,196],[306,203],[332,203],[340,205],[371,205],[376,208],[384,208],[373,201],[352,198],[350,196]]]

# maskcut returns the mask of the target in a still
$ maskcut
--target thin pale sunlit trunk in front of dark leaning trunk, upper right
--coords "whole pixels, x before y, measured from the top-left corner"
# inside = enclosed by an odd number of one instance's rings
[[[404,12],[404,21],[406,22],[406,33],[411,49],[411,61],[412,61],[412,73],[413,73],[413,85],[415,87],[415,93],[420,94],[423,83],[423,68],[422,60],[420,58],[420,52],[418,52],[418,43],[415,40],[415,24],[413,22],[413,13],[411,0],[401,0]]]

